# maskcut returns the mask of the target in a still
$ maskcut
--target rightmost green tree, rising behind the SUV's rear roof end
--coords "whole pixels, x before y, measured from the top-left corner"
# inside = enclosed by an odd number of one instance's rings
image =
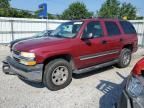
[[[123,3],[120,7],[120,17],[126,16],[127,19],[136,19],[136,7],[130,3]]]

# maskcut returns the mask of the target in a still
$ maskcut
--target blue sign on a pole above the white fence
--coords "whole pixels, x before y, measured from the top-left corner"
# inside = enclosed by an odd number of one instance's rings
[[[43,3],[39,5],[39,17],[41,18],[47,18],[47,4]]]

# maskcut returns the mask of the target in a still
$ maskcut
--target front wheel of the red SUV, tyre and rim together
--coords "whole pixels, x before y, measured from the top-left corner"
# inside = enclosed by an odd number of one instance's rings
[[[72,68],[64,59],[55,59],[45,66],[43,83],[53,91],[65,88],[71,83]]]

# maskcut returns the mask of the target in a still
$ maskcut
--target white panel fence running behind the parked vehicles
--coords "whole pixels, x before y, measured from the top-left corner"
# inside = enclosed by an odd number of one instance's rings
[[[33,36],[43,30],[53,30],[66,20],[45,20],[0,17],[0,44]],[[144,46],[144,20],[130,20],[138,34],[138,44]]]

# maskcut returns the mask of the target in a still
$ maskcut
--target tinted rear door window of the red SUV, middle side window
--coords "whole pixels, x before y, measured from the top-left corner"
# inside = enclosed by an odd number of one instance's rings
[[[107,21],[107,22],[105,22],[105,25],[106,25],[106,29],[107,29],[109,36],[121,34],[119,27],[117,26],[117,24],[115,22]]]

